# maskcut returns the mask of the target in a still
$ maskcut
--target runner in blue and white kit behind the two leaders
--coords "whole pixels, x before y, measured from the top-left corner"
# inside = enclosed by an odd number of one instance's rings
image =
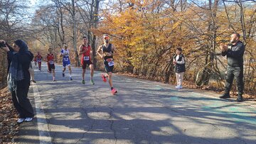
[[[68,66],[68,70],[70,72],[70,80],[73,80],[71,76],[72,70],[70,65],[68,45],[64,44],[63,47],[64,48],[60,52],[60,57],[63,57],[63,77],[65,77],[65,69],[66,69],[66,66]]]

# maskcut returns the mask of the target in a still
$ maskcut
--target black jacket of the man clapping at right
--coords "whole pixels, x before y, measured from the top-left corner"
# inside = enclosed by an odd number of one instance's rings
[[[228,66],[230,67],[242,67],[243,55],[245,52],[245,45],[238,41],[235,45],[228,45],[228,50],[222,52],[222,55],[227,55]]]

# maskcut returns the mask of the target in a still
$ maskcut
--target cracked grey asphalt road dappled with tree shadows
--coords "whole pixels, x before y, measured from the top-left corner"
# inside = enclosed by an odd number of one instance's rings
[[[46,63],[35,70],[29,98],[36,118],[21,124],[18,143],[256,143],[253,102],[117,74],[112,96],[101,72],[91,85],[89,70],[82,84],[80,68],[73,67],[73,81],[61,69],[57,82]]]

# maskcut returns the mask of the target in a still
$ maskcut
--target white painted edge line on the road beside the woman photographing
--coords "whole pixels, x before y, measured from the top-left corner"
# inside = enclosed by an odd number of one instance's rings
[[[33,84],[33,95],[35,97],[36,118],[38,124],[40,144],[51,144],[52,142],[48,124],[46,122],[46,114],[43,112],[43,107],[41,106],[41,97],[38,92],[38,87],[36,86],[36,84]]]

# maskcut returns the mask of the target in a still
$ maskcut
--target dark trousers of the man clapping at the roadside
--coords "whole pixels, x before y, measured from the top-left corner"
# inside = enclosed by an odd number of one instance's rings
[[[226,75],[226,83],[225,83],[225,93],[230,92],[230,89],[233,84],[234,77],[238,84],[238,94],[242,95],[244,90],[244,82],[243,82],[243,67],[230,67],[228,66],[227,75]]]

